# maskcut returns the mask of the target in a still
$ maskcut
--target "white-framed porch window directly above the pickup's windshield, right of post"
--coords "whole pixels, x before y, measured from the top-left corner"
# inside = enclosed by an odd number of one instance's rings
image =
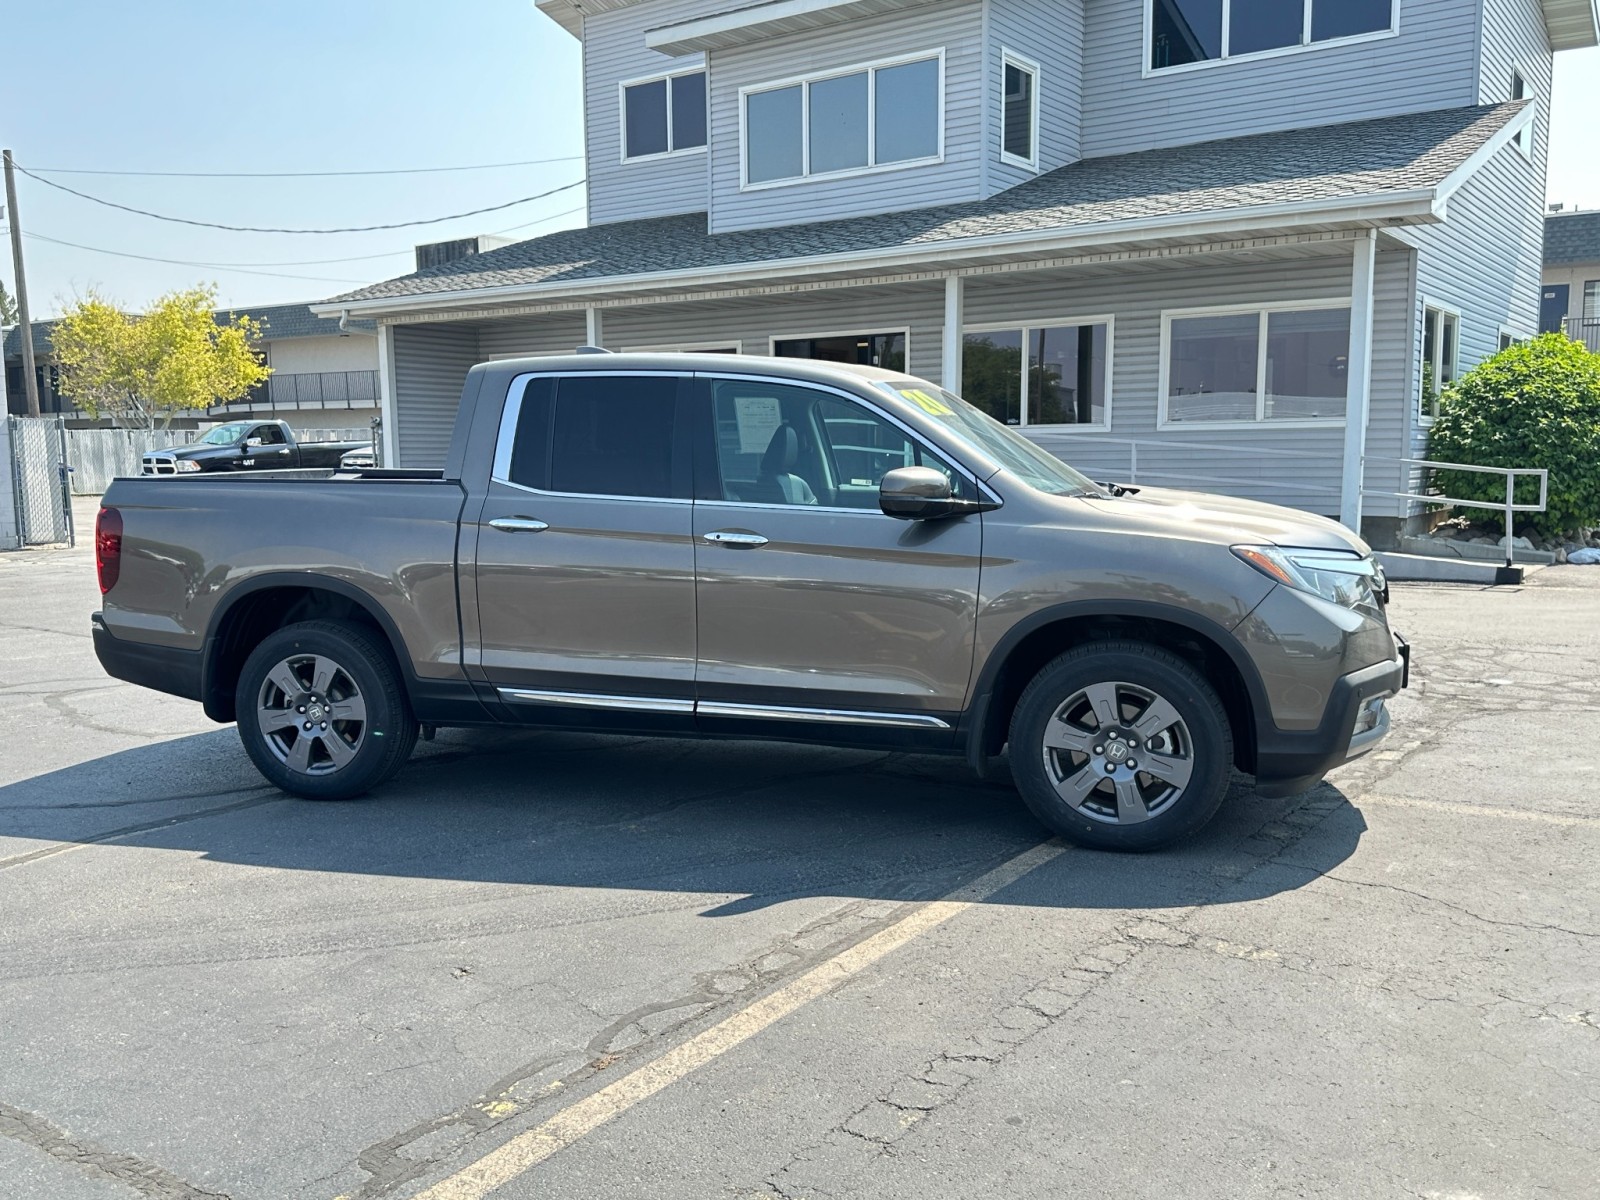
[[[1008,426],[1110,426],[1110,318],[968,330],[962,398]]]

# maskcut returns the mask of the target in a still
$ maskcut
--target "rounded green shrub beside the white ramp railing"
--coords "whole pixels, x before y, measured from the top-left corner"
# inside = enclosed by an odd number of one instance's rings
[[[1539,536],[1600,525],[1600,354],[1560,333],[1501,350],[1440,395],[1427,456],[1549,470],[1549,509],[1517,515],[1518,526],[1530,525]],[[1506,499],[1499,475],[1438,470],[1434,485],[1461,499]],[[1538,480],[1517,485],[1518,504],[1538,499]],[[1493,520],[1482,509],[1474,512]]]

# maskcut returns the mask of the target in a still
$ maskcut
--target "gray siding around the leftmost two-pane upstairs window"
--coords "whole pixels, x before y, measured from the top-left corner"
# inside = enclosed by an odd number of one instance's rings
[[[645,30],[726,8],[726,0],[651,0],[584,18],[584,149],[589,224],[706,211],[706,152],[622,162],[619,85],[702,62],[645,45]]]

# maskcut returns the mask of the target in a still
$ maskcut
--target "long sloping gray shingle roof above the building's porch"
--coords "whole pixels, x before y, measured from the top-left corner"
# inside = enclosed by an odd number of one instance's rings
[[[1360,197],[1435,187],[1523,102],[1088,158],[987,200],[814,224],[707,234],[706,214],[568,229],[373,283],[344,301],[427,296],[693,270],[850,251],[928,246],[1102,221]]]

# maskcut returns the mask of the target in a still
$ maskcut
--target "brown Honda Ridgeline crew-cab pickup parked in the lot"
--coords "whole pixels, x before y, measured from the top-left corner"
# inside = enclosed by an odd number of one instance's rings
[[[488,363],[443,470],[122,478],[94,544],[106,670],[315,800],[419,726],[1010,746],[1050,829],[1147,850],[1232,766],[1290,795],[1371,749],[1406,683],[1339,525],[1094,483],[934,384],[790,358]]]

